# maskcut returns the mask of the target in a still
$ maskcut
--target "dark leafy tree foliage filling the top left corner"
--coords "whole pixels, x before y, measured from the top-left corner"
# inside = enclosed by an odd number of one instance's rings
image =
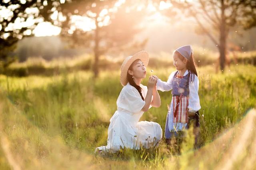
[[[33,35],[36,25],[50,21],[62,0],[2,0],[0,1],[0,62],[6,68],[14,61],[8,57],[16,43]],[[63,2],[64,3],[64,2]]]

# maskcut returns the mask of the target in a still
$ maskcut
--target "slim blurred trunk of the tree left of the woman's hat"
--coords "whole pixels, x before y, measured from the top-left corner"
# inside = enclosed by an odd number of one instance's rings
[[[98,27],[98,15],[95,18],[95,24],[96,24],[96,29],[95,29],[95,34],[94,34],[94,66],[93,66],[93,72],[94,72],[94,78],[98,77],[99,74],[99,27]]]

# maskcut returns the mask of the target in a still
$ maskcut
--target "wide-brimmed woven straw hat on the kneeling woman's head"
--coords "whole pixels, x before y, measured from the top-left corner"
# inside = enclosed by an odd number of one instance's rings
[[[138,60],[138,59],[140,59],[145,66],[148,66],[148,61],[149,61],[148,52],[140,51],[134,54],[133,56],[129,56],[129,57],[126,57],[126,59],[124,59],[124,62],[121,66],[121,76],[120,76],[120,82],[122,86],[125,86],[128,83],[127,72],[129,67],[132,65],[132,63],[135,60]]]

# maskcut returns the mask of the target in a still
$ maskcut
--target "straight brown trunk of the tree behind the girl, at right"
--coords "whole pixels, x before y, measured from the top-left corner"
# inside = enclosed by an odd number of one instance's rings
[[[220,70],[224,71],[226,63],[226,18],[224,0],[221,0],[221,24],[220,24]]]

